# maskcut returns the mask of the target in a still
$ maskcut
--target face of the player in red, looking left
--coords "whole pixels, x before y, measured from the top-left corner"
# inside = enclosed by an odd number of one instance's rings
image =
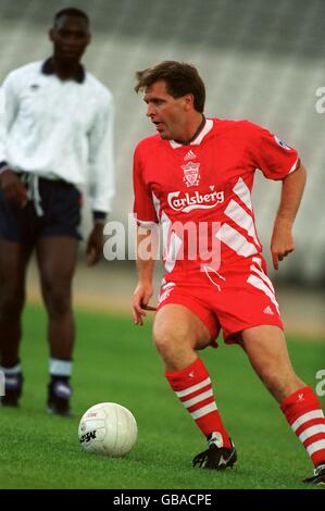
[[[155,82],[146,88],[143,100],[148,105],[147,115],[155,125],[161,138],[183,139],[187,122],[186,97],[173,98],[164,80]]]

